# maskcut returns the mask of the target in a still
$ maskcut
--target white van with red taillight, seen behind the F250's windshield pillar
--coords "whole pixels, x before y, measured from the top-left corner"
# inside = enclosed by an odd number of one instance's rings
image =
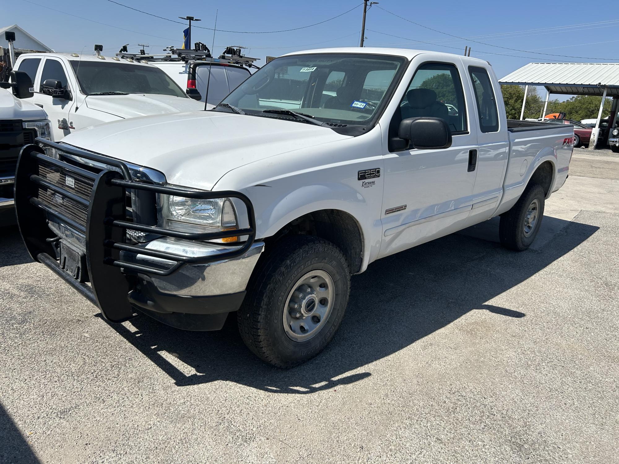
[[[211,108],[210,105],[217,105],[251,75],[247,67],[217,61],[153,61],[152,66],[158,67],[169,75],[176,84],[185,88],[187,95],[194,100],[204,103],[208,94],[209,107],[207,109]]]

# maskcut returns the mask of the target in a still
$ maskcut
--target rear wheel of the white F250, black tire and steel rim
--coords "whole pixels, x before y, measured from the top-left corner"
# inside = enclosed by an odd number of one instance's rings
[[[524,251],[533,243],[542,225],[544,197],[542,186],[527,186],[518,202],[501,215],[499,238],[504,247]]]

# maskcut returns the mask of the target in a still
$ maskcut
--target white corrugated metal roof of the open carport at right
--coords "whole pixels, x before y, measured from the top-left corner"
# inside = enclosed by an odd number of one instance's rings
[[[619,95],[619,63],[529,63],[499,79],[501,84],[543,85],[552,93]]]

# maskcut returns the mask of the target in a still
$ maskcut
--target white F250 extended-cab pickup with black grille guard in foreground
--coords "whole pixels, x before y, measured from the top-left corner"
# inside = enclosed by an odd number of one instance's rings
[[[17,218],[33,259],[107,320],[217,330],[237,311],[249,349],[290,367],[329,343],[374,260],[497,215],[505,246],[532,243],[573,128],[504,114],[479,59],[288,54],[214,110],[76,132],[48,142],[58,159],[28,145]]]

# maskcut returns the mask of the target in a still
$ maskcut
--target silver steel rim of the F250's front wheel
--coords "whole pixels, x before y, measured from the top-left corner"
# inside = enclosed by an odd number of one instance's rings
[[[333,279],[322,270],[313,270],[297,280],[282,314],[288,338],[303,342],[320,332],[331,314],[334,291]]]

